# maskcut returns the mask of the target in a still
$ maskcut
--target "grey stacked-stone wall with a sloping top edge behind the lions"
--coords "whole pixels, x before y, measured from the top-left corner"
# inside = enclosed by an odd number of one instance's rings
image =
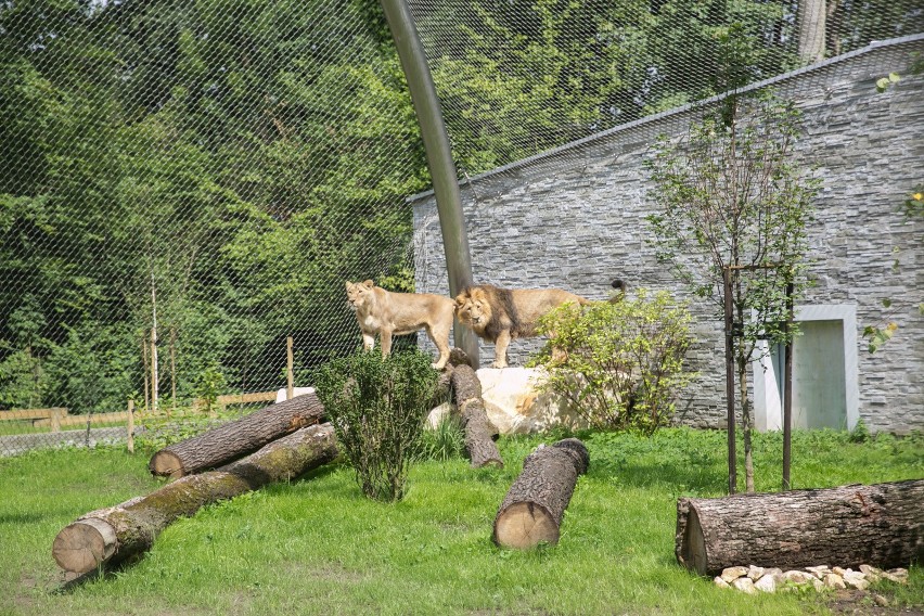
[[[922,51],[922,36],[895,39],[754,86],[772,88],[804,114],[797,155],[823,180],[810,230],[816,284],[804,305],[856,307],[859,414],[871,431],[924,428],[924,317],[917,309],[924,301],[924,220],[900,210],[924,182],[924,76],[906,74],[912,54]],[[878,93],[876,79],[890,72],[901,80]],[[462,187],[476,283],[554,286],[603,299],[609,281],[621,278],[630,292],[669,288],[691,300],[698,343],[689,360],[701,377],[684,393],[678,419],[701,427],[726,426],[721,320],[716,304],[689,298],[655,259],[645,221],[655,205],[642,162],[656,136],[681,134],[714,103],[617,127]],[[433,194],[411,203],[418,291],[448,294]],[[893,307],[884,308],[884,299]],[[870,354],[863,328],[889,320],[899,325],[895,337]],[[522,365],[540,344],[514,341],[511,364]],[[480,350],[488,365],[493,345],[483,343]]]

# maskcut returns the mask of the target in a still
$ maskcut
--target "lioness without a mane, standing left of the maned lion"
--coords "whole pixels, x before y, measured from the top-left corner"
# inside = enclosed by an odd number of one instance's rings
[[[449,330],[452,329],[454,303],[449,297],[431,293],[394,293],[385,291],[371,280],[346,283],[347,301],[356,311],[362,332],[362,347],[375,346],[375,334],[382,337],[382,356],[392,352],[392,336],[412,334],[426,330],[429,339],[439,349],[439,359],[433,364],[442,370],[449,360]]]

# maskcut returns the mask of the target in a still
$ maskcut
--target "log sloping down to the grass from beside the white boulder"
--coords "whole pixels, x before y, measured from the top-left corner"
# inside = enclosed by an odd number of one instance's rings
[[[498,429],[488,420],[488,413],[485,411],[478,375],[471,365],[460,364],[453,367],[450,381],[455,393],[455,407],[465,431],[465,451],[472,466],[503,467],[503,459],[495,444]]]

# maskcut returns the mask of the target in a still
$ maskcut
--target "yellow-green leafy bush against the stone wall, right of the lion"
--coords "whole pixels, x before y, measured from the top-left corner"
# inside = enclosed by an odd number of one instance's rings
[[[591,425],[653,434],[668,425],[692,343],[690,313],[667,292],[634,299],[565,305],[540,321],[549,343],[532,361],[548,371],[540,384],[562,396]],[[564,351],[564,352],[561,352]]]

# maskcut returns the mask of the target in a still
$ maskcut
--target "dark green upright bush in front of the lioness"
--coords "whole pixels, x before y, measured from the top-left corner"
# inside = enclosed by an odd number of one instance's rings
[[[358,352],[331,361],[315,376],[342,451],[371,499],[403,497],[436,392],[438,373],[431,361],[418,349],[384,359],[378,352]]]

